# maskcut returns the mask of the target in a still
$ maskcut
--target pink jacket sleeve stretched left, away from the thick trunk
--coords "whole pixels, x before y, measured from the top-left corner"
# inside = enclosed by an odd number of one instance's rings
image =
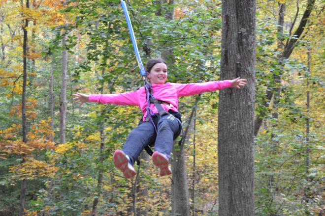
[[[89,95],[88,101],[97,102],[101,104],[140,106],[137,91],[116,93],[116,94]]]

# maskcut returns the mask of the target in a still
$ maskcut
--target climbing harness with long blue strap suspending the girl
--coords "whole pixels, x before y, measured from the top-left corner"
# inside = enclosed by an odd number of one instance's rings
[[[153,92],[152,92],[152,86],[151,86],[151,84],[146,79],[147,73],[146,73],[146,71],[145,71],[145,69],[143,67],[142,61],[141,61],[141,57],[140,57],[140,54],[139,54],[139,50],[138,50],[138,47],[136,45],[134,31],[133,31],[132,24],[131,24],[131,21],[130,21],[130,16],[129,16],[127,4],[125,3],[124,0],[121,0],[121,6],[123,8],[125,18],[127,20],[128,28],[129,28],[129,31],[130,31],[130,37],[131,37],[131,41],[132,41],[132,44],[133,44],[133,50],[134,50],[135,57],[136,57],[136,60],[137,60],[137,63],[138,63],[138,67],[140,69],[140,75],[142,76],[142,79],[144,81],[144,88],[145,88],[145,91],[146,91],[146,101],[147,101],[147,108],[146,108],[147,116],[146,116],[146,121],[150,121],[153,124],[153,126],[155,128],[155,131],[157,133],[157,127],[156,127],[155,122],[154,122],[154,120],[152,118],[155,114],[154,114],[154,112],[150,108],[150,103],[154,104],[155,107],[157,108],[157,110],[159,112],[159,116],[158,117],[160,117],[160,116],[162,116],[164,114],[170,114],[169,112],[165,111],[162,108],[162,106],[161,106],[161,104],[167,104],[167,105],[169,105],[169,103],[164,102],[164,101],[160,101],[160,100],[157,100],[157,99],[154,98],[154,95],[153,95]],[[176,119],[178,121],[180,121],[180,124],[181,124],[181,127],[182,127],[182,132],[183,132],[182,122],[181,122],[181,120],[179,118],[176,117]],[[181,143],[181,141],[182,141],[182,139],[180,140],[179,143]],[[150,156],[152,156],[153,152],[152,152],[152,150],[150,149],[150,147],[148,145],[145,147],[145,150],[146,150],[146,152]]]

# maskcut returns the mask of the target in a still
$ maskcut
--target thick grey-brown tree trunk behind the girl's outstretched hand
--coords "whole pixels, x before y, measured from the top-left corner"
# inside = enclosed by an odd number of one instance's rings
[[[254,216],[255,0],[222,1],[221,80],[247,79],[219,96],[219,216]]]

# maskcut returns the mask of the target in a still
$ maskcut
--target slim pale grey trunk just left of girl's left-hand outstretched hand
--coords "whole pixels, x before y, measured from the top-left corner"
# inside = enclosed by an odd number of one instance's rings
[[[65,118],[66,118],[66,70],[67,70],[67,53],[66,39],[67,33],[63,33],[62,39],[62,77],[61,77],[61,96],[60,96],[60,143],[65,143]]]

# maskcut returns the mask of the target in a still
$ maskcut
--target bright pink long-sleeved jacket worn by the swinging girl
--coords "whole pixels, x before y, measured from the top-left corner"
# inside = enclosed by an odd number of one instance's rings
[[[162,108],[166,111],[173,110],[178,112],[178,97],[190,96],[200,94],[208,91],[215,91],[224,88],[231,87],[231,81],[210,81],[203,83],[171,83],[164,84],[152,84],[153,95],[157,100],[161,100],[169,103],[170,105],[162,104]],[[138,90],[116,93],[116,94],[96,94],[90,95],[89,101],[98,102],[101,104],[116,104],[116,105],[133,105],[141,108],[143,121],[147,116],[147,101],[146,91],[144,87],[140,87]],[[150,104],[150,108],[154,113],[158,113],[154,104]]]

